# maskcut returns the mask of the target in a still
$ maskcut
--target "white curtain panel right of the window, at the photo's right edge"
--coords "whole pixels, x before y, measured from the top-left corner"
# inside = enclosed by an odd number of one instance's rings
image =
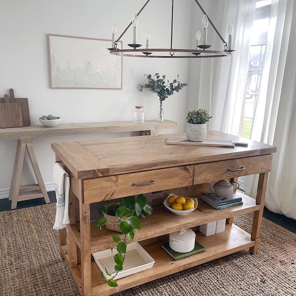
[[[277,147],[265,198],[272,212],[296,219],[296,4],[273,0],[251,138]],[[264,116],[262,116],[264,114]],[[256,196],[257,178],[245,178]]]

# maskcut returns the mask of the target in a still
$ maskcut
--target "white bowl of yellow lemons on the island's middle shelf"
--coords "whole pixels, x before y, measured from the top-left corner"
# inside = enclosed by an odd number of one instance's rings
[[[184,197],[171,193],[163,202],[164,206],[176,215],[186,215],[197,208],[196,197]]]

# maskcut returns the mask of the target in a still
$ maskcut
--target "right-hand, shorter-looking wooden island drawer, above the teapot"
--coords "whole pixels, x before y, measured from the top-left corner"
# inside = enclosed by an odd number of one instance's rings
[[[194,165],[193,184],[269,172],[272,154]]]

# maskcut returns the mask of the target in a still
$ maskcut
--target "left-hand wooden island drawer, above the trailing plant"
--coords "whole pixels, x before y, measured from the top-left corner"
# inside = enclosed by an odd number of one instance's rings
[[[193,184],[193,165],[107,176],[83,181],[84,203]]]

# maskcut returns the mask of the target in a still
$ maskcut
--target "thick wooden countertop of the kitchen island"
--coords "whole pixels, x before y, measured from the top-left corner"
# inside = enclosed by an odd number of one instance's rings
[[[185,134],[151,135],[52,143],[56,156],[77,179],[149,171],[258,156],[276,152],[276,147],[218,131],[208,131],[207,139],[248,142],[248,147],[204,147],[167,145],[168,137]]]

